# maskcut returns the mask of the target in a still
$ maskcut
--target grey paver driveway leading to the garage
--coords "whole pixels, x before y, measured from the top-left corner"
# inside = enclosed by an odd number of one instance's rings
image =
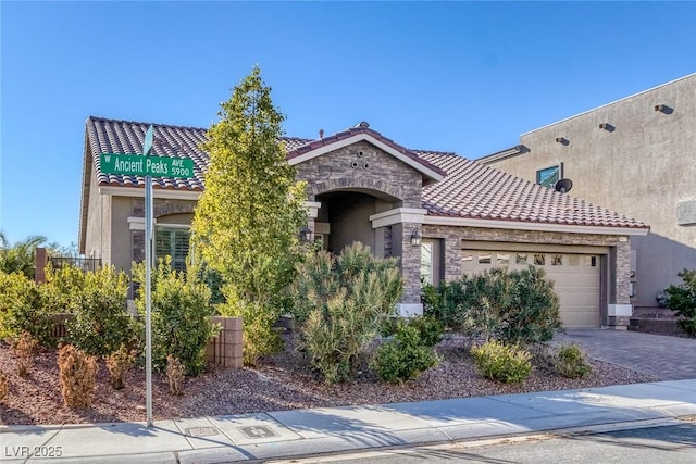
[[[626,330],[574,329],[554,344],[574,342],[600,361],[651,374],[660,380],[696,379],[696,339]]]

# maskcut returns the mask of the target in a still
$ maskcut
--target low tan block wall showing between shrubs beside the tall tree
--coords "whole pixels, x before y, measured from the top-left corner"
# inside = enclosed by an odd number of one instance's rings
[[[73,317],[70,313],[53,314],[53,327],[51,336],[61,339],[67,335],[65,322]],[[243,361],[243,322],[241,317],[212,317],[213,324],[219,324],[221,329],[215,337],[211,337],[206,346],[206,361],[212,364],[241,368]]]

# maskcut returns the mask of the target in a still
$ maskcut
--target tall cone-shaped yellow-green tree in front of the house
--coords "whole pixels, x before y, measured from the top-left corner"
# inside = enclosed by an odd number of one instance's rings
[[[219,116],[203,147],[210,163],[194,217],[192,244],[197,259],[223,278],[226,303],[221,312],[244,316],[248,351],[263,354],[260,347],[270,343],[263,341],[270,334],[265,326],[281,313],[283,289],[294,277],[297,234],[307,217],[304,186],[285,161],[279,141],[284,116],[273,105],[259,67],[234,88]],[[251,347],[259,333],[263,335]]]

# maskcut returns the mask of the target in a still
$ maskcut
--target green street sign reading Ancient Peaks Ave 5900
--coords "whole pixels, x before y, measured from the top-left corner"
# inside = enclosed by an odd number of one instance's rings
[[[194,177],[190,158],[144,156],[141,154],[101,153],[101,172],[126,176]]]

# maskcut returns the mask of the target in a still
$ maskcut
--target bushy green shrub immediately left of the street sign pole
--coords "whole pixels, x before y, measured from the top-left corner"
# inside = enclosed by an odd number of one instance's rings
[[[114,266],[86,273],[84,287],[65,323],[71,344],[90,355],[105,356],[135,337],[126,309],[128,278]]]

